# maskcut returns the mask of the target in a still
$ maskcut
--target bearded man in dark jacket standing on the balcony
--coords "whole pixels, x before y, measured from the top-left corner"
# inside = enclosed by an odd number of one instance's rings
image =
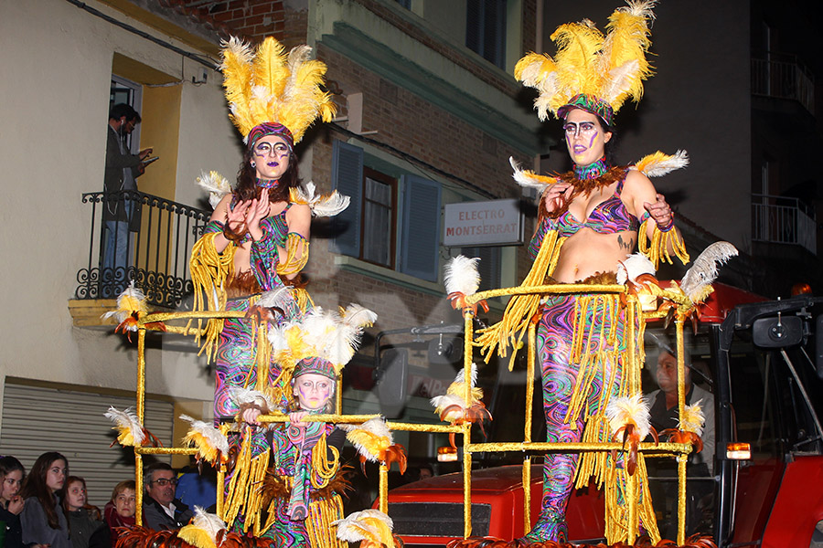
[[[109,136],[106,142],[106,172],[103,179],[102,209],[105,224],[105,250],[103,252],[103,295],[114,295],[113,283],[125,281],[128,267],[129,232],[137,231],[139,216],[134,216],[134,203],[122,191],[136,191],[136,177],[144,173],[145,158],[152,149],[132,154],[123,140],[140,123],[140,114],[125,103],[118,103],[109,111]],[[125,285],[119,284],[119,285]]]

